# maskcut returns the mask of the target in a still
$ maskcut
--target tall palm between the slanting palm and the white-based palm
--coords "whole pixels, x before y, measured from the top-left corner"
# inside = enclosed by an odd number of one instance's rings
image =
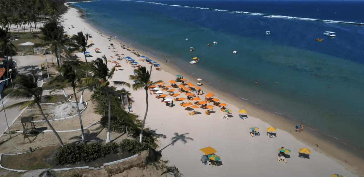
[[[77,95],[76,95],[77,83],[80,83],[82,76],[84,76],[84,71],[81,70],[81,68],[82,68],[82,65],[79,60],[64,62],[62,67],[57,68],[59,75],[56,76],[56,78],[54,79],[56,81],[62,80],[63,82],[59,87],[54,88],[53,91],[63,89],[64,87],[66,87],[67,83],[71,84],[71,86],[73,88],[73,94],[74,94],[75,100],[76,100],[77,113],[78,113],[78,117],[80,120],[82,143],[85,143],[83,125],[82,125],[82,117],[81,117],[80,108],[78,106]]]

